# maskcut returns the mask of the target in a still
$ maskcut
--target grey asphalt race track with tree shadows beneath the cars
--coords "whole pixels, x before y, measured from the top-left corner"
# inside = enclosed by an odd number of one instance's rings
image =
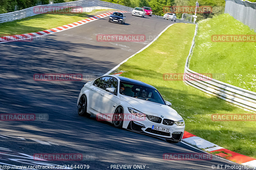
[[[145,165],[148,170],[205,170],[212,169],[212,165],[216,169],[217,165],[235,165],[217,157],[164,160],[164,153],[203,152],[182,143],[169,144],[116,129],[95,117],[78,116],[76,101],[86,81],[105,74],[174,23],[131,13],[125,16],[125,25],[109,23],[106,17],[33,41],[0,44],[0,113],[49,115],[48,121],[0,121],[0,165],[38,165],[28,156],[36,153],[81,153],[82,161],[39,162],[89,165],[95,170],[111,169],[111,165],[132,165],[132,169],[133,165]],[[147,41],[98,42],[97,34],[145,34]],[[85,80],[34,81],[36,73],[80,73]]]

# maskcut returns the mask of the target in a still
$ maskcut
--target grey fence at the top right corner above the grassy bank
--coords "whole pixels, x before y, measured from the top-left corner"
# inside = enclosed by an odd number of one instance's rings
[[[242,0],[226,0],[225,13],[241,21],[256,32],[256,3]]]

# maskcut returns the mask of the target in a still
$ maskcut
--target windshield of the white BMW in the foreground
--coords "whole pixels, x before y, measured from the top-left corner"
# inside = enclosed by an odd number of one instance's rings
[[[148,100],[159,104],[165,104],[162,96],[156,89],[142,85],[120,82],[120,94],[142,100]]]

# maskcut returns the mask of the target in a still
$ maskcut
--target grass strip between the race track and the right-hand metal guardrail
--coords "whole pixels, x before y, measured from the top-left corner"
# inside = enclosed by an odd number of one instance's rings
[[[255,122],[213,122],[211,114],[251,113],[207,95],[183,81],[164,81],[164,73],[183,73],[195,25],[178,23],[118,70],[122,76],[155,86],[186,122],[186,131],[231,151],[256,158]],[[169,43],[166,43],[169,42]],[[170,48],[170,43],[173,48]],[[254,143],[254,144],[253,144]]]

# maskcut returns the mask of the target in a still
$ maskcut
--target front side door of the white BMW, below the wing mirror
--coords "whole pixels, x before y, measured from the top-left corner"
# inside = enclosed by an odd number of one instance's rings
[[[100,113],[108,115],[112,118],[112,114],[114,113],[115,107],[117,105],[117,79],[116,78],[112,78],[108,85],[106,86],[106,88],[111,87],[111,88],[115,88],[116,92],[112,93],[112,92],[107,92],[106,90],[104,90],[103,92],[103,96],[101,96],[100,98]]]

